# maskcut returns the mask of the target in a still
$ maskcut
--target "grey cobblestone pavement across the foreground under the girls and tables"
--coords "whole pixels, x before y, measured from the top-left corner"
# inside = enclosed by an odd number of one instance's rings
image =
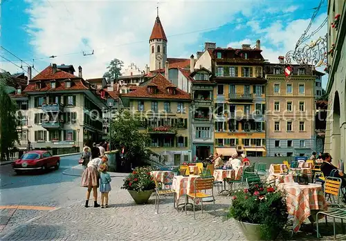
[[[202,214],[197,209],[194,220],[191,209],[188,215],[173,209],[172,197],[165,197],[155,214],[153,197],[145,205],[135,204],[129,193],[120,189],[121,184],[121,177],[112,179],[109,209],[86,209],[85,189],[79,186],[79,180],[69,182],[80,200],[53,211],[17,210],[13,215],[20,218],[17,221],[21,224],[6,226],[0,240],[246,240],[234,220],[224,220],[230,197],[216,196],[216,211],[213,204],[206,204],[206,212]],[[6,211],[2,210],[1,215],[6,215]],[[16,218],[8,222],[16,223]],[[333,226],[329,223],[321,224],[321,240],[333,239]],[[309,225],[302,226],[302,231],[293,237],[289,228],[278,240],[316,240],[316,232]],[[346,240],[346,235],[337,231],[338,240]]]

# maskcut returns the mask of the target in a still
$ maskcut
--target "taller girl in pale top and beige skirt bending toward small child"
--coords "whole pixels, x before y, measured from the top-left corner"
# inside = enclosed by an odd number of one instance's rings
[[[93,200],[94,200],[93,206],[97,208],[100,206],[100,204],[98,204],[98,186],[100,184],[98,168],[100,164],[102,164],[99,148],[94,147],[91,149],[91,158],[92,160],[88,163],[86,169],[83,172],[80,186],[84,186],[88,188],[86,190],[85,207],[86,208],[88,207],[90,193],[91,193],[91,190],[93,190]]]

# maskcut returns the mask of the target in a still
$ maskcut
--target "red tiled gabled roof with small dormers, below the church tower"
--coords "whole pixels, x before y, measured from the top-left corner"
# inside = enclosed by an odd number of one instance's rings
[[[157,85],[158,92],[155,94],[150,94],[147,90],[147,86],[152,84]],[[167,87],[173,87],[174,85],[168,81],[163,75],[158,74],[149,80],[147,86],[138,86],[136,90],[131,91],[127,94],[120,94],[120,97],[137,97],[137,98],[155,98],[155,99],[185,99],[190,100],[190,95],[185,91],[176,88],[176,93],[170,94],[167,91]],[[176,86],[174,86],[176,87]]]

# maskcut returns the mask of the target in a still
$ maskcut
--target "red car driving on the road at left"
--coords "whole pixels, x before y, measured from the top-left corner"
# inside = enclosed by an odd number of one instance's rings
[[[12,168],[17,174],[23,171],[47,171],[52,167],[57,170],[59,166],[60,157],[53,157],[48,151],[28,151],[12,163]]]

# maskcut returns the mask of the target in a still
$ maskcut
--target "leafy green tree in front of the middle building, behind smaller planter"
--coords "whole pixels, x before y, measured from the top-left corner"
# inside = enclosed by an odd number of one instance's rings
[[[140,116],[129,110],[122,110],[111,122],[111,142],[116,143],[120,150],[124,148],[122,160],[125,166],[130,163],[137,166],[149,158],[151,152],[145,144],[149,143],[150,137],[139,131],[141,126],[143,122]]]

